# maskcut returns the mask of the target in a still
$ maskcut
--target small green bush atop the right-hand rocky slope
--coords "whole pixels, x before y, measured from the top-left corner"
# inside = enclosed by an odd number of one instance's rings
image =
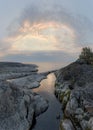
[[[79,56],[79,59],[84,60],[87,64],[93,65],[93,52],[89,47],[84,47]]]

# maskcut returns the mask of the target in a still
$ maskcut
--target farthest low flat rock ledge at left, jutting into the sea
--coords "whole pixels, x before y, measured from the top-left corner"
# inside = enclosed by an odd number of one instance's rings
[[[36,74],[37,71],[36,65],[0,62],[0,81],[33,75]]]

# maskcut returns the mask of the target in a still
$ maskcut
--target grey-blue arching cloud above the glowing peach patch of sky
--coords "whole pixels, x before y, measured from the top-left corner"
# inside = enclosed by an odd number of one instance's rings
[[[93,23],[85,16],[73,15],[67,8],[63,8],[62,0],[37,0],[31,1],[31,4],[26,7],[21,14],[18,23],[11,33],[19,34],[18,28],[24,28],[24,22],[27,20],[33,26],[37,23],[57,22],[64,24],[73,29],[76,35],[76,43],[83,45],[90,41],[90,36],[93,35]],[[15,33],[14,33],[15,32]],[[22,33],[22,32],[21,32]]]

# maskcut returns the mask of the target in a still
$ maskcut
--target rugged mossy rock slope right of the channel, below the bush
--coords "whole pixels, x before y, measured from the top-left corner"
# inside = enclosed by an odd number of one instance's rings
[[[55,75],[64,114],[60,130],[93,130],[93,66],[74,62]]]

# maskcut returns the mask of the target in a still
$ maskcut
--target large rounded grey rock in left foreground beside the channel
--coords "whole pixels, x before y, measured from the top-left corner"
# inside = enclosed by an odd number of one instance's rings
[[[29,130],[35,116],[47,107],[40,95],[0,83],[0,130]]]

